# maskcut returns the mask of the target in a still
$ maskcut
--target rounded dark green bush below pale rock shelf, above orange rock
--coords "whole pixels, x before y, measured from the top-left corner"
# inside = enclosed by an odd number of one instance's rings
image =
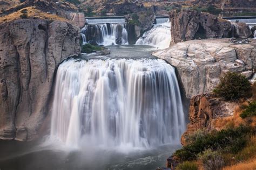
[[[251,83],[245,76],[227,72],[213,92],[226,101],[235,101],[252,96]]]

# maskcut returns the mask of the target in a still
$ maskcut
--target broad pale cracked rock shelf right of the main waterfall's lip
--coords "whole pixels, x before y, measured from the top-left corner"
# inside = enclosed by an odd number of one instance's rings
[[[153,53],[176,67],[187,98],[212,91],[224,73],[238,72],[251,78],[256,66],[256,40],[233,44],[228,39],[179,42]]]

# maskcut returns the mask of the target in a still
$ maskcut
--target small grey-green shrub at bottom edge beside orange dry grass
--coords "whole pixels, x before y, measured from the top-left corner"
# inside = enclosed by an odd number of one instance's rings
[[[212,150],[206,150],[199,154],[199,160],[203,162],[203,166],[207,170],[221,170],[225,165],[223,156]]]

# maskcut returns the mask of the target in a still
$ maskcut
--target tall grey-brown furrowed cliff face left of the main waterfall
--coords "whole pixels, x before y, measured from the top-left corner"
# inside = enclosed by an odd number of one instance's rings
[[[79,28],[21,19],[0,25],[0,40],[0,139],[32,139],[48,114],[56,68],[80,52]]]

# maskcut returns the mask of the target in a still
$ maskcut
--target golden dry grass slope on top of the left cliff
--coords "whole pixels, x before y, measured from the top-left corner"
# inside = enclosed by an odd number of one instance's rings
[[[58,17],[56,15],[51,15],[49,13],[42,12],[40,10],[37,10],[33,8],[32,6],[28,8],[24,8],[22,10],[28,11],[28,18],[37,18],[37,19],[51,19],[51,20],[61,20],[61,21],[69,21],[68,19]],[[0,23],[3,22],[11,22],[12,20],[21,19],[22,10],[19,10],[17,12],[11,13],[8,16],[0,17]]]

